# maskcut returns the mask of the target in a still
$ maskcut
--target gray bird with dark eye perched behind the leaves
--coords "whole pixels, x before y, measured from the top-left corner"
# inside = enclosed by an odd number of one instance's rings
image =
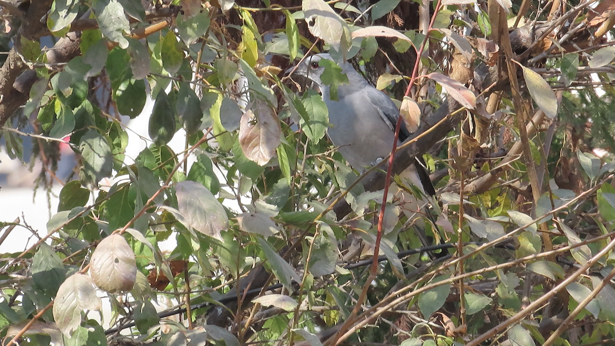
[[[333,61],[329,54],[316,54],[306,58],[297,66],[295,74],[308,78],[319,88],[323,101],[329,110],[331,126],[327,134],[333,145],[339,147],[339,152],[348,163],[363,171],[365,167],[373,166],[391,153],[395,138],[395,125],[399,118],[399,110],[395,103],[384,92],[371,86],[361,74],[354,70],[351,64],[341,63],[342,72],[348,77],[349,84],[338,86],[338,101],[331,100],[330,88],[320,79],[325,67],[321,66],[323,59]],[[399,132],[399,142],[410,137],[405,124]],[[429,173],[422,158],[416,158],[402,174],[402,179],[410,180],[426,196],[434,196],[435,190],[429,179]],[[400,193],[396,193],[400,195]],[[419,212],[424,201],[417,201],[408,194],[402,196],[402,210],[408,217]],[[416,216],[414,216],[416,217]],[[413,217],[413,218],[414,218]],[[424,234],[418,231],[421,241],[427,243]],[[425,244],[427,246],[427,244]]]

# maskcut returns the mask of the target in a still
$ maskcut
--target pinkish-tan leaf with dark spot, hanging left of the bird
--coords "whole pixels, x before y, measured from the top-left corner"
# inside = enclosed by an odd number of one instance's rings
[[[256,100],[239,123],[239,145],[246,158],[264,166],[276,155],[282,127],[273,108]]]

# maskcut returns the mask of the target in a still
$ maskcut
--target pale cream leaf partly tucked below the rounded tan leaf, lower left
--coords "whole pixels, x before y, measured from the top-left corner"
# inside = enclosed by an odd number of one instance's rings
[[[83,310],[100,310],[102,302],[96,296],[92,279],[84,274],[69,276],[58,289],[54,300],[54,320],[66,336],[81,324]]]

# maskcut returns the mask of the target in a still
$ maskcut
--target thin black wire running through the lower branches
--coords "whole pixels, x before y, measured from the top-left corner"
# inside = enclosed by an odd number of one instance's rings
[[[472,241],[469,243],[464,243],[464,245],[482,245],[485,244],[482,241]],[[452,247],[457,247],[457,244],[453,244],[453,243],[447,243],[447,244],[438,244],[438,245],[432,245],[432,246],[425,246],[425,247],[419,247],[418,249],[409,249],[406,251],[400,251],[397,252],[397,258],[402,258],[402,257],[406,257],[408,255],[413,255],[413,254],[420,254],[422,252],[428,252],[428,251],[434,251],[434,250],[443,250],[443,249],[450,249]],[[501,243],[496,245],[496,247],[504,247],[505,249],[512,249],[514,250],[514,246],[512,246],[512,244],[507,244],[506,242]],[[380,257],[378,257],[378,262],[383,262],[384,260],[386,260],[387,257],[382,255]],[[344,269],[356,269],[356,268],[360,268],[360,267],[367,267],[368,265],[370,265],[373,262],[372,259],[368,259],[368,260],[361,260],[359,262],[355,262],[352,264],[347,264],[344,265]],[[295,281],[293,281],[293,284],[298,284],[295,283]],[[264,289],[264,291],[272,291],[274,289],[278,289],[278,288],[282,288],[282,284],[274,284],[271,286],[268,286],[267,288]],[[247,292],[242,292],[241,294],[245,294],[246,296],[249,296],[250,294],[256,294],[261,292],[263,289],[262,288],[255,288],[255,289],[250,289]],[[237,296],[228,296],[228,297],[222,297],[220,299],[218,299],[218,303],[220,304],[226,304],[228,302],[232,302],[233,300],[236,300]],[[199,304],[194,304],[194,305],[190,305],[190,310],[196,310],[198,308],[204,308],[207,307],[208,305],[212,305],[212,302],[202,302]],[[173,316],[173,315],[179,315],[180,313],[185,313],[186,312],[186,308],[178,308],[176,310],[171,310],[171,311],[167,311],[167,312],[161,312],[158,314],[159,318],[165,318],[165,317],[169,317],[169,316]],[[105,331],[105,335],[109,335],[109,334],[113,334],[115,332],[121,331],[122,329],[126,329],[126,328],[130,328],[130,327],[134,327],[137,324],[135,324],[135,322],[131,322],[128,324],[124,324],[122,326],[119,326],[117,328],[111,328],[111,329],[107,329]]]

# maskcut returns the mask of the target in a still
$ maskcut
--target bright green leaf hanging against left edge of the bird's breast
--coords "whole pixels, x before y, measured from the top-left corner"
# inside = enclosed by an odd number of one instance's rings
[[[322,97],[314,91],[308,91],[301,103],[293,102],[293,105],[301,115],[299,124],[303,132],[312,142],[320,142],[329,127],[329,111]]]

